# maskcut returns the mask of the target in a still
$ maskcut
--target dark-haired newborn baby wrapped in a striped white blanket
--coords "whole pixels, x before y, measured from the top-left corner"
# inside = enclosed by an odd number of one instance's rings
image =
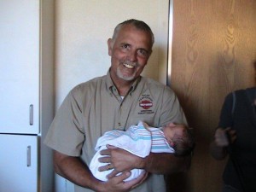
[[[127,131],[107,131],[98,139],[95,148],[96,154],[90,161],[90,171],[94,177],[102,181],[107,181],[108,174],[113,171],[98,171],[100,166],[108,165],[98,161],[98,158],[102,157],[100,151],[106,149],[107,144],[122,148],[142,158],[148,156],[150,152],[174,153],[177,156],[186,155],[191,153],[195,145],[191,132],[176,125],[155,128],[140,121],[138,125],[131,125]],[[141,169],[131,170],[131,176],[125,181],[138,177],[142,172]]]

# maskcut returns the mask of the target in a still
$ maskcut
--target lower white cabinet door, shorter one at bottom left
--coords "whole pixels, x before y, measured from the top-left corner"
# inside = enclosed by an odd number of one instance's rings
[[[0,191],[38,191],[36,136],[0,134]]]

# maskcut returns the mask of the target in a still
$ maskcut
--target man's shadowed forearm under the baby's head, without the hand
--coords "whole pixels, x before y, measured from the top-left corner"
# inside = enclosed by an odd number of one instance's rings
[[[156,174],[167,174],[175,172],[185,172],[189,169],[191,156],[177,157],[174,154],[154,154],[150,153],[140,166],[148,172]]]

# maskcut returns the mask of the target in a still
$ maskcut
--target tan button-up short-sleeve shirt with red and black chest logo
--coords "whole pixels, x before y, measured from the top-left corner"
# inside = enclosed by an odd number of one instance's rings
[[[122,99],[107,75],[71,90],[55,115],[44,143],[62,154],[79,156],[86,165],[93,158],[96,141],[104,132],[128,129],[139,120],[153,127],[167,123],[187,125],[175,93],[164,84],[139,77]],[[92,191],[75,186],[76,192]],[[132,191],[166,191],[162,175],[152,174]]]

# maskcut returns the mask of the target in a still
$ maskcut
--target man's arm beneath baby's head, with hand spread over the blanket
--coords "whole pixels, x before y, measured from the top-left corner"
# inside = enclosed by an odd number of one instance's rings
[[[177,157],[174,154],[150,153],[147,157],[141,158],[113,146],[108,146],[108,149],[102,150],[101,154],[107,156],[99,158],[99,161],[113,167],[115,174],[136,168],[157,174],[185,172],[189,169],[191,162],[190,155]],[[102,166],[100,170],[108,170],[108,166]]]

